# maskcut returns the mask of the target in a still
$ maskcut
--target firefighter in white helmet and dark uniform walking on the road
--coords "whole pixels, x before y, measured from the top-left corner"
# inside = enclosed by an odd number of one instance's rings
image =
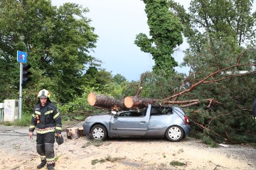
[[[40,154],[41,164],[38,169],[47,164],[52,170],[55,166],[55,155],[53,144],[55,136],[61,137],[61,118],[56,106],[50,102],[50,93],[46,89],[39,91],[38,104],[33,108],[29,137],[32,139],[33,131],[36,129],[36,151]]]

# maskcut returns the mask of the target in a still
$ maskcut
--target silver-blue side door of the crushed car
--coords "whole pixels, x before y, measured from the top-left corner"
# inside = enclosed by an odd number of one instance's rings
[[[138,114],[137,111],[127,111],[112,116],[110,133],[117,136],[143,136],[149,126],[149,116]]]

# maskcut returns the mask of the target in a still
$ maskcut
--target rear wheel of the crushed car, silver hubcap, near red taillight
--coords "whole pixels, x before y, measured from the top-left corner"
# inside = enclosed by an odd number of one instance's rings
[[[178,142],[183,139],[184,132],[181,127],[174,125],[166,130],[165,136],[169,141]]]

